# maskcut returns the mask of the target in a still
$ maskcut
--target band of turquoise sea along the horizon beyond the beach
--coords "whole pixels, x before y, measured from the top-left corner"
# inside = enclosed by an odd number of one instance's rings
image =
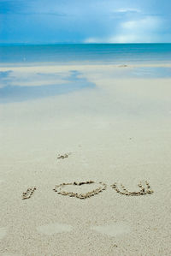
[[[0,63],[171,61],[171,44],[1,45]]]

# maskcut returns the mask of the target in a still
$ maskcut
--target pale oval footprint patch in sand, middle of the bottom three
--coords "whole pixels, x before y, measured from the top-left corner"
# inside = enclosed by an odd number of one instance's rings
[[[73,227],[68,224],[62,224],[62,223],[50,223],[46,225],[39,226],[37,228],[39,233],[45,234],[45,235],[54,235],[62,232],[70,232],[72,231]]]

